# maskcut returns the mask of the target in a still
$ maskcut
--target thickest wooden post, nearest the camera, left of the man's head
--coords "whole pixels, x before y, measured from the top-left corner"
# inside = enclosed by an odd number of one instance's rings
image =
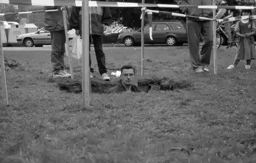
[[[82,97],[83,105],[90,106],[90,66],[89,66],[89,0],[82,0]]]

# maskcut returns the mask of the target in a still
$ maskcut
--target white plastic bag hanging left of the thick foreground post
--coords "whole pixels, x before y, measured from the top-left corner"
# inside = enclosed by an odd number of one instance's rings
[[[71,57],[77,60],[82,58],[82,39],[80,39],[79,36],[75,37],[73,40]]]

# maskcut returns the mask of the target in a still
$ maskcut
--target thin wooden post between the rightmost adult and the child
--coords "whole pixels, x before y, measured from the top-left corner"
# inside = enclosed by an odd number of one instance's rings
[[[215,0],[212,1],[212,6],[215,6],[216,5],[216,2]],[[218,67],[217,67],[217,49],[216,49],[216,9],[212,9],[212,15],[213,15],[213,23],[212,23],[212,30],[214,32],[214,74],[217,75],[218,73]]]

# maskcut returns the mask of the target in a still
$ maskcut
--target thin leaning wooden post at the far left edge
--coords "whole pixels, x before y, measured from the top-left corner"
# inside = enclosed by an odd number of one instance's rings
[[[8,101],[8,92],[7,92],[7,84],[6,84],[6,74],[5,74],[5,59],[4,59],[4,51],[3,51],[3,43],[2,36],[0,30],[0,64],[1,64],[1,76],[2,76],[2,92],[6,101],[6,104],[9,104]]]

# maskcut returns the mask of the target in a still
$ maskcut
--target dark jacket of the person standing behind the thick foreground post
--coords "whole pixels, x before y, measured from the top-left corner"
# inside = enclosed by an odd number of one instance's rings
[[[112,16],[108,7],[90,7],[91,22],[92,22],[92,35],[102,35],[103,25],[111,25]],[[89,25],[90,26],[90,25]],[[70,28],[80,30],[82,35],[82,10],[81,7],[72,7],[70,16]]]

